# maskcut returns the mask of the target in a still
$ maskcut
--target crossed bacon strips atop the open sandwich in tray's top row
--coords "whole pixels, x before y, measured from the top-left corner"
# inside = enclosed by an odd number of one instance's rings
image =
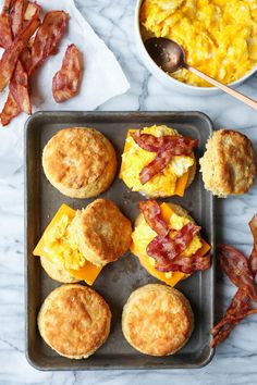
[[[139,129],[133,133],[132,137],[144,150],[157,152],[156,158],[140,171],[139,179],[143,185],[159,174],[173,157],[191,156],[198,142],[183,136],[164,135],[157,138],[154,135],[142,134]]]

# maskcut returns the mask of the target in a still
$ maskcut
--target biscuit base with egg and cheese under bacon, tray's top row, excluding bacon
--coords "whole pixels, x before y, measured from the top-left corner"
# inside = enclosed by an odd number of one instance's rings
[[[184,138],[175,129],[166,125],[154,125],[140,131],[128,129],[122,154],[120,178],[132,191],[139,191],[148,197],[183,196],[195,176],[196,160],[193,151],[189,151],[188,154],[173,156],[160,172],[143,183],[140,179],[142,172],[150,163],[152,164],[158,153],[142,148],[135,141],[133,135],[138,132],[140,132],[140,135],[148,135],[149,138],[163,138],[163,140],[166,137]],[[160,149],[160,151],[162,151],[162,156],[164,150]]]

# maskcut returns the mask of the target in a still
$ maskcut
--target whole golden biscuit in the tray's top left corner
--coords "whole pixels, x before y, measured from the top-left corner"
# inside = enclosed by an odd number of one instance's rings
[[[96,129],[64,128],[44,148],[42,167],[52,186],[65,196],[95,197],[113,181],[115,151]]]

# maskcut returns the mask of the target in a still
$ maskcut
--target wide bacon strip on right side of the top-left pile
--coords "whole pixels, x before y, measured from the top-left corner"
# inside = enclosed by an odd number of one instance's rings
[[[69,14],[64,11],[51,11],[45,15],[32,45],[32,66],[28,75],[54,52],[59,41],[65,34],[68,22]]]

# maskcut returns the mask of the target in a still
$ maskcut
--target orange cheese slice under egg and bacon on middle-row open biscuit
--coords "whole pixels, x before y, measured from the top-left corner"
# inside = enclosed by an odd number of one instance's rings
[[[162,214],[163,220],[166,222],[170,222],[170,218],[173,213],[172,209],[167,203],[162,203],[160,206],[160,208],[161,208],[161,214]],[[203,257],[210,250],[210,246],[203,238],[200,239],[200,241],[201,241],[203,246],[199,250],[197,250],[197,252],[195,254]],[[134,254],[137,254],[134,244],[131,247],[131,251]],[[188,274],[184,274],[181,272],[170,272],[170,273],[158,272],[155,269],[155,265],[151,264],[151,259],[147,254],[140,254],[140,256],[137,254],[137,258],[139,259],[142,265],[148,271],[148,273],[150,273],[156,278],[164,282],[166,284],[168,284],[172,287],[174,287],[180,281],[182,281],[188,276]]]

